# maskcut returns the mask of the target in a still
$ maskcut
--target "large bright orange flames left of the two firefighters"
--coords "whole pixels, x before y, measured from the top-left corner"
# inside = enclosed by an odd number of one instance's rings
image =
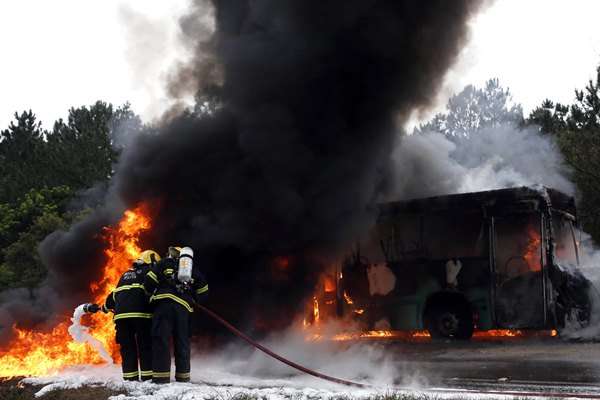
[[[125,211],[116,228],[104,228],[108,243],[107,262],[102,278],[90,285],[93,301],[104,304],[106,296],[115,288],[121,274],[140,253],[139,235],[150,229],[149,210],[142,204]],[[89,345],[76,343],[67,329],[65,320],[50,332],[37,332],[13,326],[15,338],[0,350],[0,377],[53,375],[61,369],[77,364],[102,364],[100,355]],[[98,339],[118,360],[114,341],[114,324],[109,314],[97,313],[91,317],[90,334]]]

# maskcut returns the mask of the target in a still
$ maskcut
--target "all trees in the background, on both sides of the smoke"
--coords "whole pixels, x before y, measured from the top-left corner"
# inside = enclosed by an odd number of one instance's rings
[[[448,101],[445,112],[415,130],[440,132],[460,143],[480,129],[511,123],[538,126],[550,135],[570,167],[577,187],[583,229],[600,242],[600,66],[595,80],[575,91],[572,104],[544,100],[525,117],[510,91],[497,79],[483,88],[465,87]],[[210,114],[216,99],[197,98],[190,111]],[[69,110],[67,120],[42,128],[32,111],[15,114],[0,131],[0,291],[31,291],[46,277],[39,243],[51,232],[82,218],[93,203],[81,193],[106,185],[118,161],[121,135],[151,130],[129,104],[104,102]]]

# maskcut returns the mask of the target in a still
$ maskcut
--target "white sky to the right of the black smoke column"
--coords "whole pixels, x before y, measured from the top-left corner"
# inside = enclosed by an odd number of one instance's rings
[[[542,100],[570,103],[600,65],[600,1],[497,0],[471,21],[471,40],[440,102],[499,78],[528,113]]]

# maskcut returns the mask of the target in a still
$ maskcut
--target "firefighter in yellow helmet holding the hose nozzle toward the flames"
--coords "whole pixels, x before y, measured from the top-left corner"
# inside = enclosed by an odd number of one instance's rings
[[[123,273],[102,307],[96,304],[86,307],[88,312],[114,313],[125,380],[152,379],[152,313],[143,284],[151,266],[159,261],[160,256],[154,250],[143,251]]]

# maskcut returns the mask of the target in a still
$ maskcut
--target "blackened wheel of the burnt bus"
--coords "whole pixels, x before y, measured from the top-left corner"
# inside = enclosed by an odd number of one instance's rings
[[[468,340],[473,336],[473,315],[464,301],[430,305],[425,324],[432,339]]]

